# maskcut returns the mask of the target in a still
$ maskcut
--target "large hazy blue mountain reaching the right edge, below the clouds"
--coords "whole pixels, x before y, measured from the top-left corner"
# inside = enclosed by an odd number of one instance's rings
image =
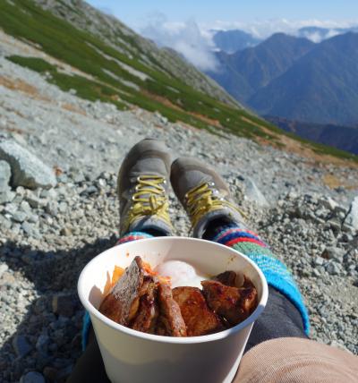
[[[328,38],[260,89],[248,104],[262,115],[307,123],[356,123],[357,63],[357,33]]]

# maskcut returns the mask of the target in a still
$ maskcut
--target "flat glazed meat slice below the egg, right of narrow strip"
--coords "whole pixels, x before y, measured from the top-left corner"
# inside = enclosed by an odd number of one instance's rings
[[[173,297],[179,304],[188,336],[202,336],[225,329],[217,315],[209,310],[199,288],[175,287]]]

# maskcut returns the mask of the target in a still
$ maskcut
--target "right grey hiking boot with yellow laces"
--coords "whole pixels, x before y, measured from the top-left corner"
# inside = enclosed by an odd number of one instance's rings
[[[170,181],[192,222],[192,235],[202,238],[210,224],[244,228],[243,216],[217,172],[195,158],[181,157],[172,164]]]

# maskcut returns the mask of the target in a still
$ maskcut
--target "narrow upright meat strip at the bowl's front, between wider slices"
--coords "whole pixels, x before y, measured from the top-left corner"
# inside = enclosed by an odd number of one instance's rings
[[[157,335],[186,336],[186,326],[179,305],[173,299],[170,285],[160,282],[158,285],[160,315]]]

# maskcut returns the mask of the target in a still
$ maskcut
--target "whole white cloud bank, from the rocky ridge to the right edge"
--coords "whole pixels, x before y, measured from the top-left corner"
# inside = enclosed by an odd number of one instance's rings
[[[198,25],[194,20],[184,22],[167,21],[163,13],[149,15],[147,25],[140,29],[141,35],[151,38],[159,47],[171,47],[183,57],[194,64],[201,71],[213,71],[218,68],[216,57],[213,53],[215,44],[212,35],[215,30],[244,30],[255,38],[268,38],[273,33],[285,32],[294,36],[310,38],[313,42],[331,38],[341,29],[351,28],[358,25],[356,21],[320,21],[303,20],[289,21],[286,19],[251,21],[251,22],[227,22],[215,21],[210,24]],[[319,27],[325,31],[299,30],[304,27]]]

